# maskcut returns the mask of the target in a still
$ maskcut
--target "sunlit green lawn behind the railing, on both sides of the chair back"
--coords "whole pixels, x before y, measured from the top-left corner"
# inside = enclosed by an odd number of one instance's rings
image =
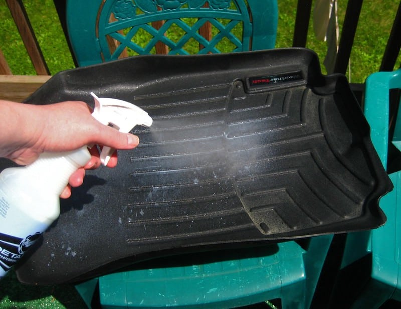
[[[291,47],[297,0],[279,0],[278,3],[279,24],[276,47]],[[51,74],[73,68],[74,64],[58,21],[53,0],[24,0],[24,4]],[[379,69],[398,4],[398,0],[383,1],[379,5],[376,1],[364,1],[347,72],[347,77],[351,82],[364,82],[368,75]],[[346,1],[339,1],[340,30],[345,9]],[[2,20],[0,23],[0,48],[12,72],[16,75],[34,75],[35,70],[11,19],[7,5],[4,3],[0,5],[0,18]],[[317,41],[314,37],[312,20],[306,47],[314,50],[319,55],[320,61],[323,62],[326,44]],[[224,50],[224,46],[222,48]],[[396,67],[400,65],[401,57],[398,57]],[[325,72],[323,66],[322,70]]]

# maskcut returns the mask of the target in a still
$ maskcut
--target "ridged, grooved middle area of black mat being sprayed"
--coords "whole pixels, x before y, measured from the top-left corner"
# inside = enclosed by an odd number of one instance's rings
[[[341,135],[348,124],[331,96],[304,86],[248,94],[237,81],[136,100],[154,125],[131,159],[128,243],[254,226],[280,234],[361,215],[372,176],[347,167],[347,154],[363,153]]]

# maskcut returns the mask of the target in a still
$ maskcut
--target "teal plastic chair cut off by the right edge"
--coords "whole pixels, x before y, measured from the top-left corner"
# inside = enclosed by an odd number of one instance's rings
[[[401,69],[377,72],[366,80],[364,113],[371,127],[373,145],[387,170],[392,126],[392,145],[401,150],[401,110],[395,116],[390,115],[391,89],[401,89]],[[401,171],[392,172],[389,177],[394,189],[380,200],[387,216],[385,225],[347,236],[342,269],[371,254],[370,276],[361,292],[353,296],[353,308],[378,308],[390,299],[401,301]],[[363,284],[362,280],[359,284]],[[334,298],[338,297],[341,295]]]

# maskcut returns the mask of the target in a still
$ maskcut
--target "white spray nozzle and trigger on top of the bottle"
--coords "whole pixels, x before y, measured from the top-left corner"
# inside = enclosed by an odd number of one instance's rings
[[[115,98],[99,98],[93,92],[91,95],[95,99],[92,116],[104,125],[128,133],[136,125],[150,127],[153,123],[148,113],[134,104]],[[100,153],[100,160],[103,165],[107,165],[114,151],[115,149],[110,147],[103,147]]]

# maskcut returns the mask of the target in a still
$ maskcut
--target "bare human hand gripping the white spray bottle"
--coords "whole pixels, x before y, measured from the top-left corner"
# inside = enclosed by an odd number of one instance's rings
[[[62,152],[84,145],[98,144],[114,149],[132,149],[139,138],[101,124],[84,102],[69,101],[50,105],[29,105],[0,101],[0,156],[28,165],[44,152]],[[90,150],[91,160],[74,172],[60,195],[68,198],[71,187],[82,184],[85,169],[100,166],[97,147]],[[107,164],[115,167],[115,153]]]

